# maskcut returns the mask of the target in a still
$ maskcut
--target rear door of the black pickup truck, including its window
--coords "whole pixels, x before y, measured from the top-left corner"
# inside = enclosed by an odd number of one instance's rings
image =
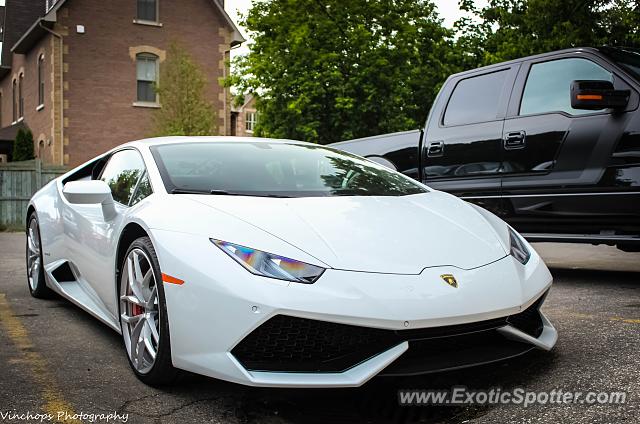
[[[497,212],[503,119],[518,67],[481,69],[445,84],[423,141],[426,184]]]

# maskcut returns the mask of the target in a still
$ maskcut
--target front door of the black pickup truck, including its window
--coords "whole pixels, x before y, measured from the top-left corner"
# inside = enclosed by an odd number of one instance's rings
[[[573,109],[574,80],[607,80],[630,89],[587,52],[523,63],[504,123],[502,179],[504,217],[523,233],[606,233],[636,214],[630,202],[601,195],[608,191],[602,178],[630,113]]]

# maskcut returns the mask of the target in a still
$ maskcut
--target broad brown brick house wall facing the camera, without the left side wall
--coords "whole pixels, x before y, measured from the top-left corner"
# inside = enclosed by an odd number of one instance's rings
[[[168,50],[171,41],[187,48],[208,75],[207,97],[224,129],[224,90],[218,78],[220,46],[229,33],[211,0],[160,0],[159,26],[133,22],[136,2],[69,0],[59,13],[65,37],[65,161],[77,165],[118,144],[150,135],[153,109],[135,107],[140,46]],[[84,25],[85,33],[76,33]],[[227,44],[228,46],[228,44]],[[162,65],[161,65],[162,66]],[[160,82],[161,83],[161,82]],[[160,100],[162,102],[162,100]]]

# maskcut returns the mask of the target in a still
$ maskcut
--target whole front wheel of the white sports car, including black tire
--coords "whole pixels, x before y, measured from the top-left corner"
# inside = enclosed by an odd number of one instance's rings
[[[120,270],[120,328],[129,365],[145,384],[170,384],[178,370],[171,361],[162,273],[149,237],[131,243]]]

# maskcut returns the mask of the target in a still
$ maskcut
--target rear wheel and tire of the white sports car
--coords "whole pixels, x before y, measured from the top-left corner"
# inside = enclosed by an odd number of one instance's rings
[[[35,212],[29,215],[27,221],[26,265],[27,285],[31,296],[38,299],[51,299],[53,291],[47,287],[44,276],[44,261],[42,260],[42,239],[40,237],[40,224]]]

